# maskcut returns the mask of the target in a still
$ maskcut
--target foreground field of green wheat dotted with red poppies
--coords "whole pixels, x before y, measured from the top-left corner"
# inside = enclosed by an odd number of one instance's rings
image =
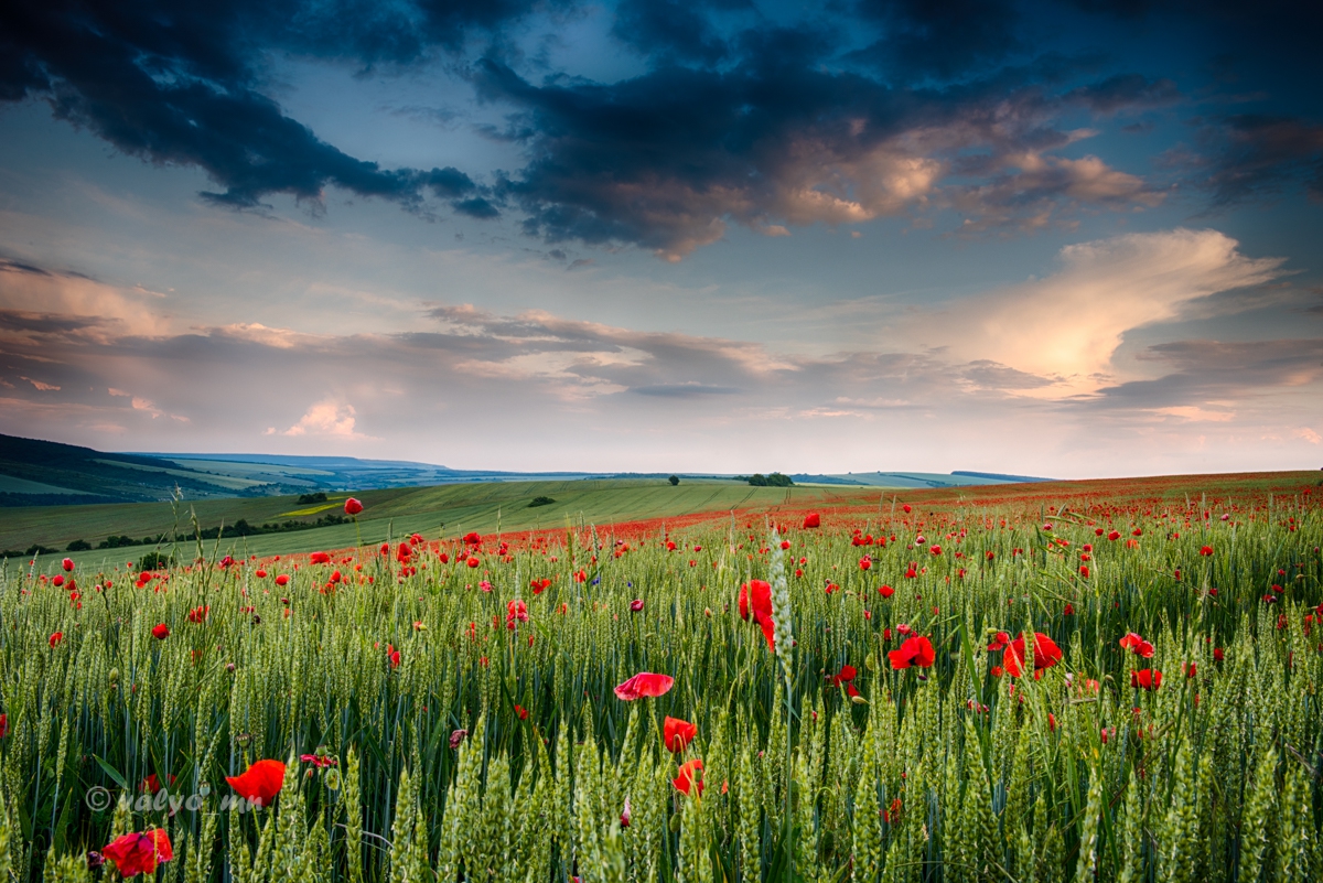
[[[785,550],[740,516],[11,568],[0,867],[106,876],[89,850],[164,829],[156,874],[189,883],[1323,879],[1323,519],[1298,490],[888,501],[796,517]],[[930,666],[897,668],[906,632]],[[1012,677],[998,632],[1060,660]],[[639,672],[673,686],[618,698]],[[668,715],[697,734],[675,753]],[[259,759],[283,787],[241,812],[225,777]]]

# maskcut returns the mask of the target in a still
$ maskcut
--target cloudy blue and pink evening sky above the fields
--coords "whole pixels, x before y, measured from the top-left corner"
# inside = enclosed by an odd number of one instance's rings
[[[0,432],[1316,469],[1307,5],[8,3]]]

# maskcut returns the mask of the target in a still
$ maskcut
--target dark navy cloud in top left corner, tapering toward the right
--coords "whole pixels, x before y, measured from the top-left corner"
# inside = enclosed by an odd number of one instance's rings
[[[0,98],[45,98],[131,156],[194,165],[213,202],[254,208],[269,194],[319,201],[328,185],[418,208],[426,193],[475,217],[458,169],[382,169],[286,116],[262,89],[261,52],[283,48],[361,65],[409,62],[525,7],[508,3],[15,3],[0,12]]]

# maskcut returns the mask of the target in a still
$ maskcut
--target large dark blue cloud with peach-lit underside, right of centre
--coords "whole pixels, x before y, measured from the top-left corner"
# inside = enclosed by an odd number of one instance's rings
[[[943,90],[823,70],[822,34],[765,29],[724,70],[667,66],[613,85],[534,85],[484,59],[490,99],[521,108],[533,157],[500,193],[548,242],[626,242],[667,258],[720,239],[726,219],[855,223],[954,206],[967,230],[1032,227],[1069,205],[1156,205],[1162,194],[1095,157],[1044,155],[1072,135],[1069,110],[1147,107],[1170,83],[1109,79],[1065,95],[1005,73]],[[1012,85],[1013,83],[1013,85]],[[943,184],[949,174],[974,182]],[[978,180],[982,178],[982,180]]]

